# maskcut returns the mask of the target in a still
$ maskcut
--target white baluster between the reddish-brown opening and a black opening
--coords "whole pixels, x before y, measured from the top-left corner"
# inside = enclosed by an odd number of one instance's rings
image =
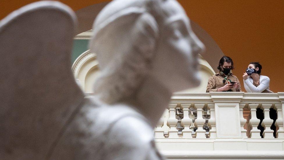
[[[258,108],[258,103],[248,104],[248,108],[251,110],[251,119],[249,120],[249,126],[252,127],[250,137],[251,138],[261,138],[260,130],[257,129],[260,119],[256,117],[256,109]]]

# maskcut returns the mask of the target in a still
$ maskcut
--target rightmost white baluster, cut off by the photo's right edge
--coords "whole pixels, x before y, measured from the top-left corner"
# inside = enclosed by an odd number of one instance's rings
[[[276,131],[276,138],[284,139],[282,104],[275,104],[275,108],[277,113],[275,126],[278,127],[278,130]]]

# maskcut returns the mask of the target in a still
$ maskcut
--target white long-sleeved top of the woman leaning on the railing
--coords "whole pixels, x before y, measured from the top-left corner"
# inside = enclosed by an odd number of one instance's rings
[[[244,88],[246,89],[246,92],[253,92],[253,93],[261,93],[265,89],[269,89],[269,82],[270,79],[267,76],[260,76],[260,84],[258,87],[255,87],[253,85],[253,79],[248,78],[244,80]]]

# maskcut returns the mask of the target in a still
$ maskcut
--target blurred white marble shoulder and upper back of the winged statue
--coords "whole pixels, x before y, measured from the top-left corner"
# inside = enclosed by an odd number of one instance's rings
[[[67,125],[51,159],[133,159],[137,152],[147,155],[153,147],[153,131],[146,121],[130,106],[86,100]]]

